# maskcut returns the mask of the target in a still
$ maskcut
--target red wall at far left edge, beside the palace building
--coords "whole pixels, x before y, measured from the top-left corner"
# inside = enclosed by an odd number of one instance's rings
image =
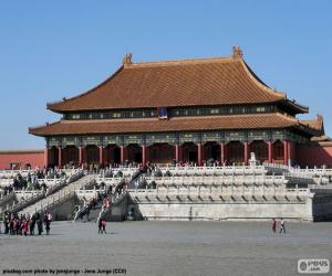
[[[0,170],[11,169],[12,164],[17,164],[15,169],[24,169],[27,164],[32,169],[35,167],[44,167],[43,150],[7,150],[0,151]]]

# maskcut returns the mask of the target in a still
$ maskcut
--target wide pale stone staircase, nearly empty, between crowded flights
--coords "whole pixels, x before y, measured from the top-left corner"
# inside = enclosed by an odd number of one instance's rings
[[[63,187],[59,191],[56,191],[50,195],[46,195],[45,198],[35,202],[34,204],[24,208],[20,212],[33,214],[35,212],[44,210],[49,205],[53,204],[54,202],[61,202],[62,199],[68,198],[70,194],[74,195],[75,190],[80,190],[80,189],[86,188],[87,185],[91,185],[93,180],[94,180],[93,174],[84,176],[84,177],[80,178],[79,180]]]

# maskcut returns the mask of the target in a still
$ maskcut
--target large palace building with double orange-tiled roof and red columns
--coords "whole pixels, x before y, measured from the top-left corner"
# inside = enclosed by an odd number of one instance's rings
[[[303,164],[303,148],[324,138],[323,118],[266,85],[232,56],[134,63],[72,98],[48,104],[59,121],[29,128],[44,137],[46,166],[204,161]],[[305,164],[305,163],[304,163]]]

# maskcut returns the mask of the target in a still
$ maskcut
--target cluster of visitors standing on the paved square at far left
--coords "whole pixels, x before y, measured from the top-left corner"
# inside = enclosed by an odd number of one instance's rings
[[[18,214],[6,212],[3,216],[3,233],[8,235],[41,235],[46,231],[50,234],[53,217],[50,212],[30,214]],[[44,226],[43,226],[44,225]],[[0,232],[1,233],[1,232]]]

